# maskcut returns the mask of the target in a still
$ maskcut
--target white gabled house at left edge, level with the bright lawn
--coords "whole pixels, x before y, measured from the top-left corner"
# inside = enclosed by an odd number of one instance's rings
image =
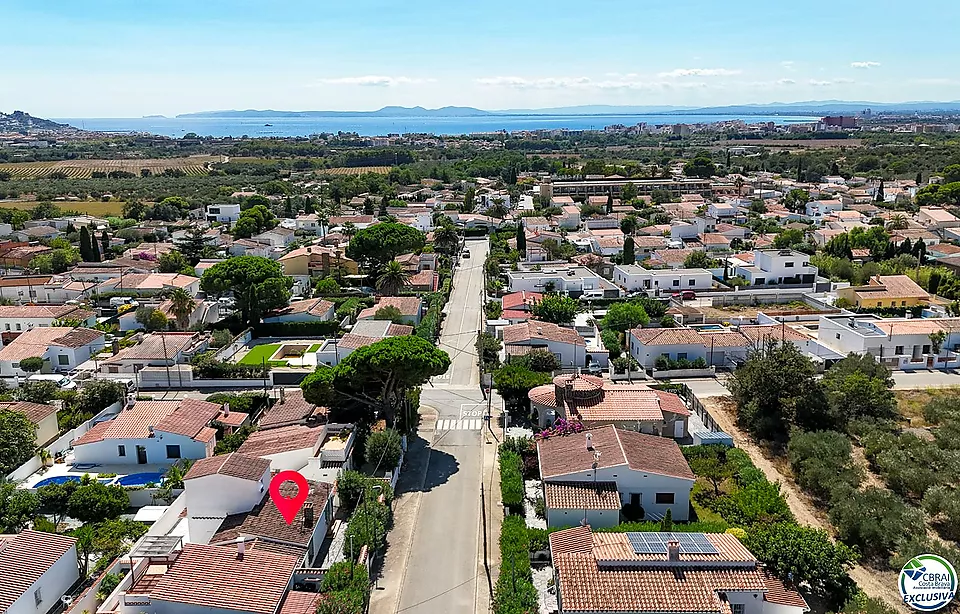
[[[25,377],[24,358],[43,358],[53,371],[71,371],[103,349],[104,333],[92,328],[44,326],[27,330],[0,348],[0,377]]]

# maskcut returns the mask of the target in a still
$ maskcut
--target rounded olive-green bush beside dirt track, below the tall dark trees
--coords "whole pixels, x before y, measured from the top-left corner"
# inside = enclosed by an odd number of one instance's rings
[[[795,430],[787,445],[797,485],[822,502],[829,502],[838,486],[855,489],[862,472],[853,462],[850,440],[836,431]]]

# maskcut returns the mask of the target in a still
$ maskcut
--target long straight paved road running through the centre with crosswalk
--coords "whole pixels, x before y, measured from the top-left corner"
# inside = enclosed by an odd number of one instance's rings
[[[485,468],[480,429],[486,428],[481,418],[487,404],[475,343],[488,246],[472,241],[467,249],[471,257],[461,260],[455,273],[439,342],[450,354],[451,367],[423,387],[424,420],[397,487],[403,517],[398,511],[398,527],[388,538],[384,590],[371,600],[377,614],[472,613],[478,600],[486,603],[487,581],[478,563]]]

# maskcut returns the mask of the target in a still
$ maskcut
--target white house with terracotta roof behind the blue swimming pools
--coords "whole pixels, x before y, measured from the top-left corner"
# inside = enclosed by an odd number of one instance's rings
[[[222,406],[197,399],[137,401],[74,440],[74,456],[78,463],[98,465],[172,465],[181,458],[206,458],[216,444],[210,423],[223,414]]]

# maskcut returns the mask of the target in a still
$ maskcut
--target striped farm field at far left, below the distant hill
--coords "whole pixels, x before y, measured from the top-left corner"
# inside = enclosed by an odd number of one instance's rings
[[[125,171],[139,176],[143,169],[153,175],[169,169],[181,170],[187,175],[206,175],[209,165],[219,162],[220,156],[190,156],[153,160],[60,160],[56,162],[13,162],[0,164],[0,172],[10,173],[14,179],[39,179],[53,173],[63,173],[68,179],[91,179],[94,173],[109,174]]]

